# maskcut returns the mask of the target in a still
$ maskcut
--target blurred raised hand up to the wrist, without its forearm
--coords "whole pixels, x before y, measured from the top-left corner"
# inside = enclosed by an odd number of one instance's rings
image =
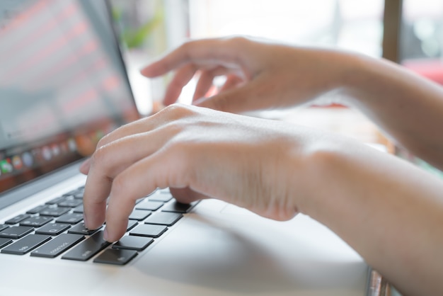
[[[237,37],[187,42],[142,69],[142,74],[152,78],[176,71],[163,100],[166,106],[200,74],[195,105],[241,113],[296,106],[339,89],[346,81],[346,64],[349,56],[340,52]],[[226,76],[226,82],[206,97],[216,76]]]

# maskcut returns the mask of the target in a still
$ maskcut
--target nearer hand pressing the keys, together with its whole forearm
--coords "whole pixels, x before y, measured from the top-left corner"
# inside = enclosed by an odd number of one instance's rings
[[[173,105],[104,137],[81,171],[86,227],[106,221],[108,241],[137,199],[170,187],[182,203],[217,198],[275,220],[302,212],[408,294],[443,290],[442,181],[343,137]]]

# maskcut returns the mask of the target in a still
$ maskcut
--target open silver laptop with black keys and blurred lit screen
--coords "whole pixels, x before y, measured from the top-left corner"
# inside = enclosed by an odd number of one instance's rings
[[[106,1],[2,0],[0,57],[0,295],[369,295],[367,264],[305,215],[163,189],[115,244],[84,228],[79,165],[139,117]]]

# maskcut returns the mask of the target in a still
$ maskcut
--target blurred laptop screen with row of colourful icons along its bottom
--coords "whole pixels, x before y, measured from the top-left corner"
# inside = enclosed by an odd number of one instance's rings
[[[0,193],[138,113],[104,1],[0,1]]]

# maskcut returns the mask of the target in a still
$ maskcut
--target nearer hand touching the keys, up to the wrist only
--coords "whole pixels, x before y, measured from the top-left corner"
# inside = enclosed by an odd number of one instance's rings
[[[100,140],[81,168],[88,173],[86,226],[106,221],[106,239],[116,241],[135,201],[166,187],[182,203],[217,198],[288,220],[297,213],[291,188],[301,193],[304,183],[299,156],[313,137],[292,129],[275,120],[178,105],[120,127]]]

